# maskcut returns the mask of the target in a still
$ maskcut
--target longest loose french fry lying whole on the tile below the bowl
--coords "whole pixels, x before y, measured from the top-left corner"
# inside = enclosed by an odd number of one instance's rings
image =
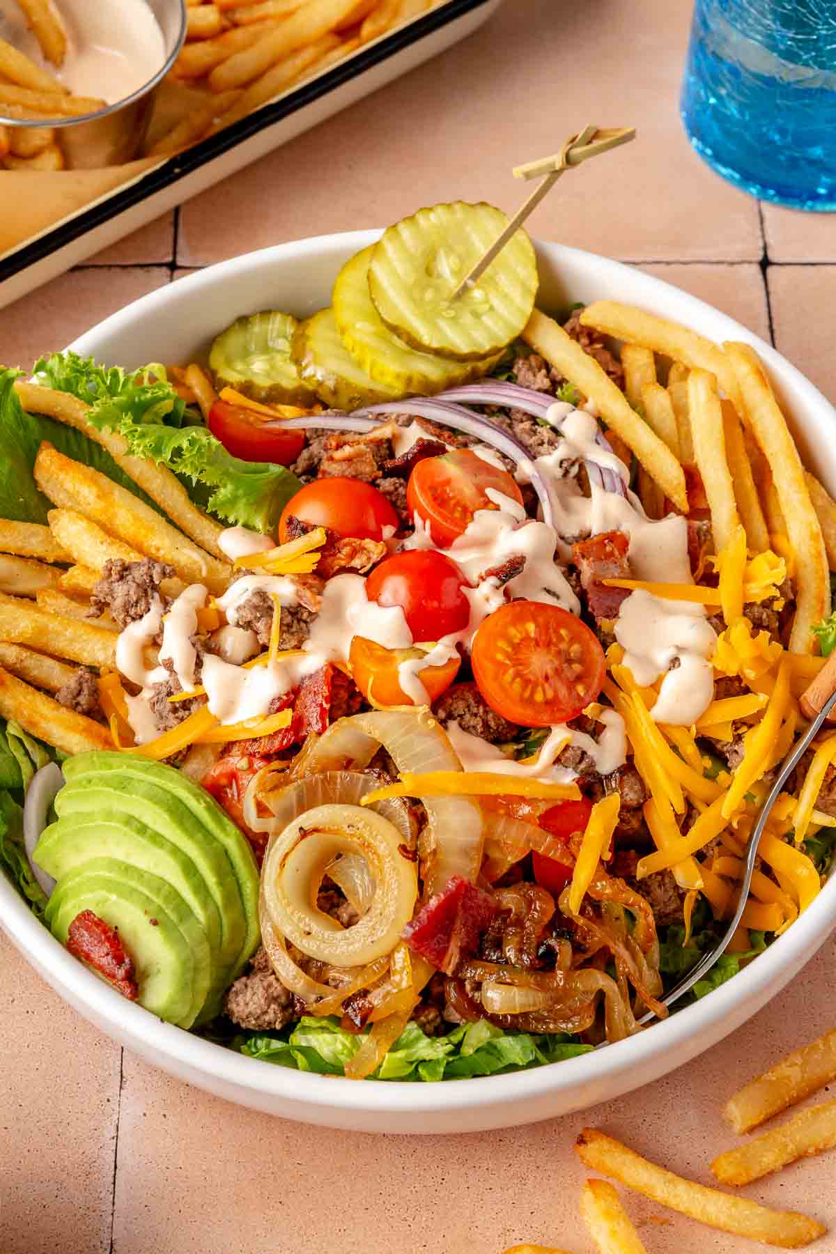
[[[798,1211],[771,1210],[747,1198],[729,1196],[674,1175],[594,1127],[584,1127],[575,1152],[590,1170],[612,1176],[652,1201],[723,1233],[782,1249],[797,1249],[827,1231],[823,1224]]]

